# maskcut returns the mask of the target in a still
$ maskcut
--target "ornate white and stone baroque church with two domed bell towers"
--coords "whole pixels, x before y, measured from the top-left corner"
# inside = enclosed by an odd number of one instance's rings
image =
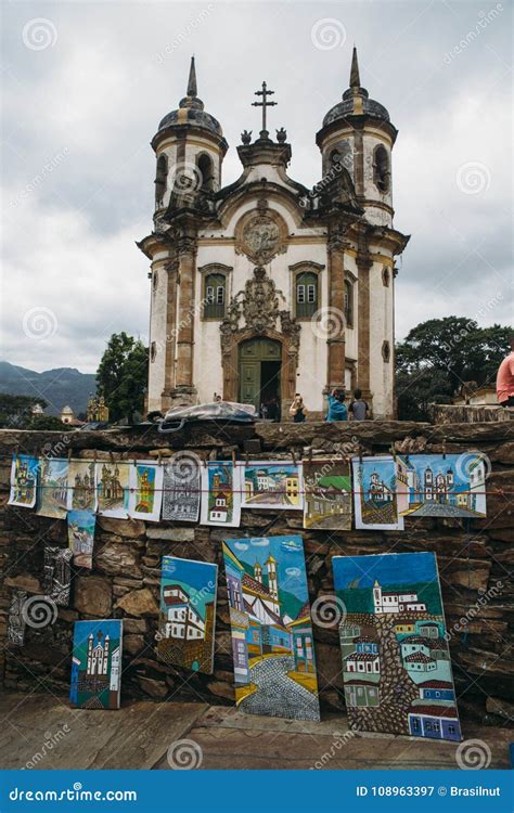
[[[359,387],[373,417],[395,415],[395,258],[409,236],[393,225],[397,130],[361,87],[349,88],[316,136],[320,181],[287,175],[283,127],[268,130],[274,91],[253,102],[239,179],[222,183],[229,149],[198,98],[194,57],[187,95],[152,139],[156,154],[146,409],[226,401],[273,404],[296,392],[321,417],[334,387]]]

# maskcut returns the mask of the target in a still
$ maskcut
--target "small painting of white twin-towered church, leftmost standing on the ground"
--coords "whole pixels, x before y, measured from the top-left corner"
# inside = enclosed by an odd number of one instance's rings
[[[119,709],[123,621],[76,621],[69,701],[78,709]]]

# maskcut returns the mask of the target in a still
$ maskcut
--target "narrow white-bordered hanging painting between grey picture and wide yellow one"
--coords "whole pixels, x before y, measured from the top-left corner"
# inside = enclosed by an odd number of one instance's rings
[[[243,467],[229,462],[209,461],[202,468],[202,525],[239,528]]]

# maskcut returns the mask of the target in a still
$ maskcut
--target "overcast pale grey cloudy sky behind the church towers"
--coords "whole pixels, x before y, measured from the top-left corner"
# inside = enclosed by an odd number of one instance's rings
[[[396,228],[411,234],[397,278],[397,337],[449,314],[512,322],[512,7],[485,2],[3,2],[5,229],[0,357],[94,372],[113,332],[147,340],[149,262],[160,118],[198,95],[240,175],[262,79],[293,147],[290,175],[321,175],[314,136],[361,83],[399,129]]]

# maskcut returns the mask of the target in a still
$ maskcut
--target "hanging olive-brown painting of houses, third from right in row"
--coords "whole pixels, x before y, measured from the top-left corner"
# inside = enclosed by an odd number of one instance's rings
[[[348,463],[304,461],[304,528],[351,528],[351,473]]]

